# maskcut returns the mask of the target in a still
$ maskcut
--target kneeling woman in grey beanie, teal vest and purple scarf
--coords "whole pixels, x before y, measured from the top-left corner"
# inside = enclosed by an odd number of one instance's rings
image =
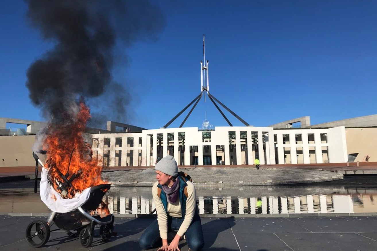
[[[158,161],[155,170],[158,181],[152,187],[152,195],[157,219],[140,237],[140,247],[151,249],[161,246],[158,250],[179,251],[179,239],[185,235],[190,249],[201,250],[204,239],[194,185],[178,175],[173,156],[168,155]],[[178,231],[169,245],[167,234],[173,230]]]

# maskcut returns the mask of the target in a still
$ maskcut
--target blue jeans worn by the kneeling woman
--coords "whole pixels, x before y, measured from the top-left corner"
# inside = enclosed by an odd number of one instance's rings
[[[167,217],[168,233],[179,229],[184,218]],[[194,215],[190,227],[185,233],[187,245],[193,251],[201,250],[204,246],[202,222],[198,213]],[[139,239],[139,245],[142,249],[159,248],[162,246],[160,230],[158,229],[157,219],[150,224]]]

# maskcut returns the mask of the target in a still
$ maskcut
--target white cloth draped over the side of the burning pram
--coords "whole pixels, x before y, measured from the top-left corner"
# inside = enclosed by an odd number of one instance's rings
[[[56,192],[50,185],[47,174],[48,170],[42,167],[39,193],[43,203],[52,211],[57,213],[67,213],[81,207],[89,199],[90,187],[81,193],[76,193],[75,197],[72,199],[63,199],[60,196],[60,193]]]

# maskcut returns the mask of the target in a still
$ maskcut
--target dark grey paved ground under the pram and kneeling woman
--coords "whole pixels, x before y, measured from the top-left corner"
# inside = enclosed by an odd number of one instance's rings
[[[35,217],[1,216],[0,249],[37,250],[25,240],[25,230]],[[118,233],[108,242],[94,237],[90,247],[81,246],[77,237],[63,230],[51,232],[40,250],[120,250],[141,251],[138,239],[154,220],[115,218]],[[371,251],[377,250],[377,217],[300,217],[300,218],[206,218],[202,217],[205,246],[218,251]],[[51,229],[55,229],[52,226]],[[95,234],[98,235],[98,228]],[[188,251],[182,240],[181,251]],[[156,249],[150,249],[156,250]]]

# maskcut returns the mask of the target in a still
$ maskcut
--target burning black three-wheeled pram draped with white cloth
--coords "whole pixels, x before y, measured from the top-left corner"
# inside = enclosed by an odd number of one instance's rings
[[[33,157],[38,163],[44,166],[43,162],[34,152]],[[73,198],[67,198],[68,189],[72,186],[72,181],[80,176],[80,172],[74,173],[69,179],[68,172],[66,175],[60,173],[59,175],[61,175],[63,182],[55,181],[58,183],[58,186],[55,186],[57,189],[54,189],[52,186],[48,178],[48,172],[48,169],[42,168],[40,196],[41,200],[52,212],[47,222],[35,220],[28,225],[26,228],[26,240],[29,245],[37,248],[41,247],[49,240],[51,231],[62,229],[69,236],[76,236],[78,234],[81,245],[88,247],[93,241],[96,224],[101,225],[100,236],[104,240],[108,240],[110,237],[116,235],[113,232],[114,216],[109,213],[107,205],[102,201],[103,196],[110,189],[110,184],[99,184],[89,187],[81,193],[76,193]],[[56,190],[59,190],[59,192]],[[99,207],[99,205],[101,206]],[[88,213],[95,210],[98,213],[101,213],[103,210],[106,211],[106,216],[101,218],[99,215],[92,216]],[[50,230],[53,224],[57,225],[58,229]],[[77,231],[77,233],[72,233],[71,230]]]

